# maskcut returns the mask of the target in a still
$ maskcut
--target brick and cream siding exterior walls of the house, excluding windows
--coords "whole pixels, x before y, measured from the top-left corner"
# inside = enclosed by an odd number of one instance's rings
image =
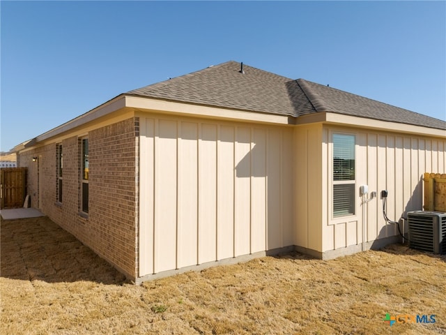
[[[397,241],[397,227],[383,219],[380,191],[388,191],[387,215],[397,221],[422,209],[424,172],[446,173],[445,137],[335,120],[222,120],[187,108],[183,116],[129,107],[44,134],[17,157],[29,169],[31,206],[140,282],[268,251],[334,258]],[[355,136],[355,214],[339,218],[332,218],[334,133]],[[88,216],[80,214],[84,137]],[[378,197],[362,204],[365,184]]]

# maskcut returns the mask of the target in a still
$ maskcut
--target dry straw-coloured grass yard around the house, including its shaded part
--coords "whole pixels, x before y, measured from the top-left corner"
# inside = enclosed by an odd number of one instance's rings
[[[446,334],[446,257],[405,246],[265,257],[136,286],[32,218],[1,222],[0,275],[1,334]],[[436,322],[390,326],[386,313]]]

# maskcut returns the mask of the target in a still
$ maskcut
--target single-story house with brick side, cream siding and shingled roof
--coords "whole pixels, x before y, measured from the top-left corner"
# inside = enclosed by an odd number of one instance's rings
[[[17,145],[40,209],[134,282],[400,241],[446,173],[446,122],[229,61],[120,94]],[[368,186],[368,193],[363,186]]]

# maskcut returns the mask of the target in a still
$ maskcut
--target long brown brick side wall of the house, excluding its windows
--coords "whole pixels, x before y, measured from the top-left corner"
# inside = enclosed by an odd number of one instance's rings
[[[31,206],[130,278],[137,275],[138,123],[126,119],[20,153],[20,166],[29,169]],[[89,138],[88,216],[79,214],[84,137]],[[56,144],[63,148],[61,203],[56,198]]]

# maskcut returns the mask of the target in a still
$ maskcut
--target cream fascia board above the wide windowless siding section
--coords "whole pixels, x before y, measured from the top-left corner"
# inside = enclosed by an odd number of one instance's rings
[[[220,107],[177,103],[139,96],[125,96],[125,106],[135,110],[152,110],[154,112],[181,114],[190,117],[210,117],[236,121],[252,121],[268,124],[295,124],[294,118],[286,115],[265,114],[261,112],[245,112]]]

